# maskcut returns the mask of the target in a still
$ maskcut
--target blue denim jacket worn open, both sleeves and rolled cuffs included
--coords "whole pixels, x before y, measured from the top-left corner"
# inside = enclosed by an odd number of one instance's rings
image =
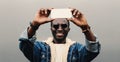
[[[27,29],[19,38],[20,50],[30,62],[51,62],[50,46],[45,42],[36,41],[34,35],[28,39]],[[96,42],[90,42],[86,39],[86,45],[76,42],[69,47],[67,62],[90,62],[98,54],[100,44],[96,37]]]

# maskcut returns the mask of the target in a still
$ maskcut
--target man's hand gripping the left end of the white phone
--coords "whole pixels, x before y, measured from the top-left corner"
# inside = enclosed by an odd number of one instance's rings
[[[41,25],[47,22],[51,22],[53,19],[48,18],[52,9],[40,9],[33,20],[33,25]]]

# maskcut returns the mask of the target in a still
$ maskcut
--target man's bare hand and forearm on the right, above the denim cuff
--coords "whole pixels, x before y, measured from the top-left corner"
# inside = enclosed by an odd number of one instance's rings
[[[85,34],[86,39],[94,42],[96,40],[95,36],[92,33],[85,16],[77,9],[72,9],[72,15],[73,18],[70,20],[82,29],[82,32]]]

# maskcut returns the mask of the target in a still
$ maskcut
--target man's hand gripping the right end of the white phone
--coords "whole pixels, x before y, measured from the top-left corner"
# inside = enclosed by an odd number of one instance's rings
[[[81,12],[79,12],[77,9],[72,9],[71,12],[72,12],[73,18],[70,18],[69,19],[70,21],[72,21],[77,26],[81,27],[81,29],[89,28],[86,18]]]

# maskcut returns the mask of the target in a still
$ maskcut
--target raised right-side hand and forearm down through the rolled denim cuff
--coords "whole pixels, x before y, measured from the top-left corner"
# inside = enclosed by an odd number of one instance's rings
[[[99,40],[96,37],[95,34],[90,29],[90,26],[88,25],[85,16],[78,11],[77,9],[72,9],[73,18],[70,20],[76,24],[78,27],[81,28],[82,32],[84,33],[86,37],[86,48],[90,52],[99,52],[100,50],[100,44]]]

